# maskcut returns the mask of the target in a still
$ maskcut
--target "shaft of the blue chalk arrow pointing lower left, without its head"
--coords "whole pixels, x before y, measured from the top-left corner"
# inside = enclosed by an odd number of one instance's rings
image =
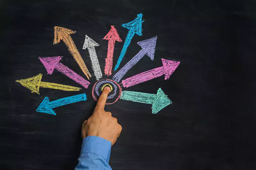
[[[85,101],[85,100],[87,100],[85,93],[75,95],[75,96],[69,96],[69,97],[61,98],[61,99],[50,102],[49,108],[53,109],[56,107],[60,107],[60,106],[64,106],[67,104],[76,103],[80,101]]]

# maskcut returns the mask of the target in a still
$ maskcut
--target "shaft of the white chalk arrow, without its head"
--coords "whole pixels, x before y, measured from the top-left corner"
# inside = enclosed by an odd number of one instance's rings
[[[101,70],[100,70],[100,63],[99,63],[99,60],[98,60],[98,57],[97,57],[95,47],[94,46],[89,47],[88,51],[89,51],[89,55],[90,55],[90,58],[91,58],[92,69],[93,69],[94,75],[95,75],[97,80],[100,80],[100,78],[102,77],[102,73],[101,73]]]

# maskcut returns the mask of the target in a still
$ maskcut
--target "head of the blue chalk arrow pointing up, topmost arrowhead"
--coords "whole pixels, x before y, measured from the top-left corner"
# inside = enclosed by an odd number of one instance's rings
[[[137,35],[142,36],[142,16],[143,14],[137,14],[137,18],[128,22],[126,24],[122,24],[122,26],[128,30],[135,32]]]

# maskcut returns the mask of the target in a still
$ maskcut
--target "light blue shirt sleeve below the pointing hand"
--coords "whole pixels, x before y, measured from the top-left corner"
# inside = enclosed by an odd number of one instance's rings
[[[111,170],[109,157],[111,142],[98,136],[87,136],[82,143],[75,170]]]

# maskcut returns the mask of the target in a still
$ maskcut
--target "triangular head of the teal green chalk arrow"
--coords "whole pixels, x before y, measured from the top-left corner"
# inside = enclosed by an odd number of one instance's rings
[[[160,110],[164,109],[169,104],[172,104],[172,101],[164,94],[164,91],[159,88],[156,93],[156,98],[152,104],[152,113],[156,114]]]

